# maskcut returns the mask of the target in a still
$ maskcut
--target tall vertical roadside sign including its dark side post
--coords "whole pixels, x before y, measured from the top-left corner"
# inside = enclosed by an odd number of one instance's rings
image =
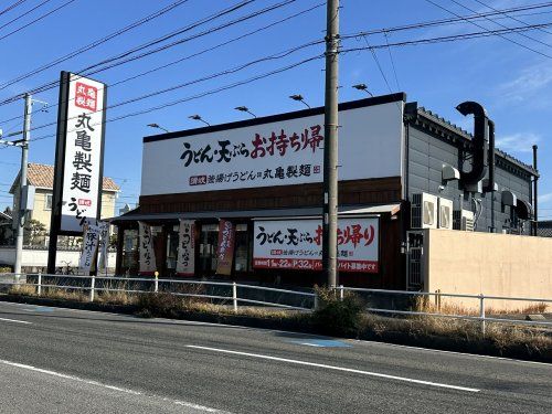
[[[47,272],[55,273],[59,235],[83,235],[102,212],[107,85],[62,72]]]

